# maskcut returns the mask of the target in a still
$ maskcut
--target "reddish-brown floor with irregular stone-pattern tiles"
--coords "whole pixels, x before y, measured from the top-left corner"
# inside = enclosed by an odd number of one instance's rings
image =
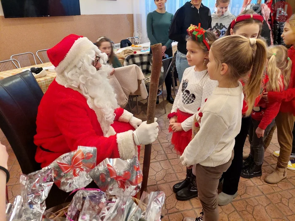
[[[144,101],[145,103],[145,101]],[[139,117],[146,120],[147,106],[139,102]],[[165,100],[167,113],[172,105]],[[135,108],[133,109],[133,113]],[[148,179],[148,191],[162,190],[166,193],[166,205],[163,214],[164,221],[181,221],[186,216],[196,217],[202,210],[198,198],[189,201],[177,201],[172,191],[172,186],[185,178],[185,167],[183,167],[171,145],[171,134],[168,132],[169,121],[163,110],[163,101],[156,106],[155,117],[159,122],[159,136],[152,146],[151,167]],[[21,169],[18,161],[7,142],[0,133],[2,144],[7,146],[9,153],[8,169],[10,170],[10,181],[8,183],[9,200],[19,194],[19,173]],[[250,151],[250,145],[245,143],[244,152]],[[238,197],[230,204],[219,207],[220,220],[295,220],[295,171],[288,170],[288,176],[278,184],[266,184],[263,179],[275,168],[277,158],[272,156],[274,150],[279,150],[277,133],[274,134],[272,144],[265,153],[263,164],[263,175],[260,178],[241,178]],[[140,152],[140,163],[143,163],[144,149]]]

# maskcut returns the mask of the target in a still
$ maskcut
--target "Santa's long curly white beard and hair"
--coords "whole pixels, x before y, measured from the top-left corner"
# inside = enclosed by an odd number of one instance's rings
[[[102,64],[102,67],[96,71],[92,65],[96,55],[101,56],[101,60],[105,58],[98,48],[97,50],[94,48],[81,58],[73,70],[62,75],[57,74],[56,81],[85,96],[88,106],[95,111],[101,129],[106,135],[115,119],[114,111],[118,108],[118,103],[108,80],[108,73],[112,71],[112,68],[108,64]]]

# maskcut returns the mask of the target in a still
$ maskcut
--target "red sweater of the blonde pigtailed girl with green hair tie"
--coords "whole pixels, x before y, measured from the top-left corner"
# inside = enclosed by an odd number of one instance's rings
[[[281,90],[284,90],[284,76],[281,75],[281,80],[283,82],[283,87]],[[269,78],[267,75],[265,75],[265,78],[263,79],[263,92],[266,92],[266,86],[269,82]],[[273,119],[277,116],[277,113],[280,110],[281,102],[275,101],[273,103],[265,103],[263,99],[260,99],[256,107],[260,107],[262,110],[256,112],[252,111],[251,117],[254,120],[260,121],[258,127],[265,130],[265,128],[273,121]]]

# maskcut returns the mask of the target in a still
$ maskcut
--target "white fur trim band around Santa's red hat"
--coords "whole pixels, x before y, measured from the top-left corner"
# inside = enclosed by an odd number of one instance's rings
[[[64,60],[62,60],[55,68],[55,71],[57,73],[63,73],[66,70],[72,70],[78,60],[85,56],[91,48],[97,48],[97,46],[89,41],[87,37],[78,38],[65,56]]]

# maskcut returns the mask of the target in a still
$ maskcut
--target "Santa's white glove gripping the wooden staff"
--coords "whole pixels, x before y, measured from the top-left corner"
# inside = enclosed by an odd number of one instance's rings
[[[137,146],[151,144],[158,137],[159,124],[156,122],[147,124],[146,121],[142,122],[140,126],[133,131],[134,142]]]

